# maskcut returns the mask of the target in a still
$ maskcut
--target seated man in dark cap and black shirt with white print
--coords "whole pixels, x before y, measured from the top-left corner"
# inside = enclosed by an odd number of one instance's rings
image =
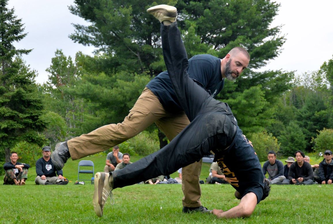
[[[42,149],[43,157],[36,162],[37,177],[35,183],[37,185],[49,185],[49,184],[68,184],[68,181],[63,177],[62,170],[55,170],[51,159],[51,147],[44,146]],[[57,173],[57,175],[56,175]]]

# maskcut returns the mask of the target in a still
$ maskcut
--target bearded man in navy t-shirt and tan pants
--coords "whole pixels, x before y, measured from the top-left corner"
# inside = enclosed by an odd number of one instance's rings
[[[177,12],[171,12],[176,15]],[[149,23],[149,22],[148,22]],[[196,55],[189,59],[188,75],[215,97],[224,86],[224,78],[235,80],[242,73],[241,67],[231,69],[236,60],[248,64],[248,53],[235,47],[222,59],[211,55]],[[245,58],[244,58],[245,57]],[[232,72],[232,71],[234,72]],[[189,120],[172,88],[168,72],[161,72],[152,79],[141,93],[129,115],[122,123],[109,124],[88,134],[58,143],[51,158],[56,169],[62,169],[69,157],[77,160],[114,147],[145,130],[153,123],[169,141],[178,135]],[[199,176],[202,160],[182,168],[183,212],[205,212],[200,201]],[[112,170],[108,170],[112,171]]]

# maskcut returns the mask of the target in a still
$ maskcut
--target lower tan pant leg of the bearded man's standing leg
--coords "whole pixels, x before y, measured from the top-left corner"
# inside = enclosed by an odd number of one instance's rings
[[[181,170],[182,190],[184,197],[182,199],[185,207],[201,206],[201,188],[199,184],[199,176],[201,172],[202,160],[191,165],[183,167]]]

